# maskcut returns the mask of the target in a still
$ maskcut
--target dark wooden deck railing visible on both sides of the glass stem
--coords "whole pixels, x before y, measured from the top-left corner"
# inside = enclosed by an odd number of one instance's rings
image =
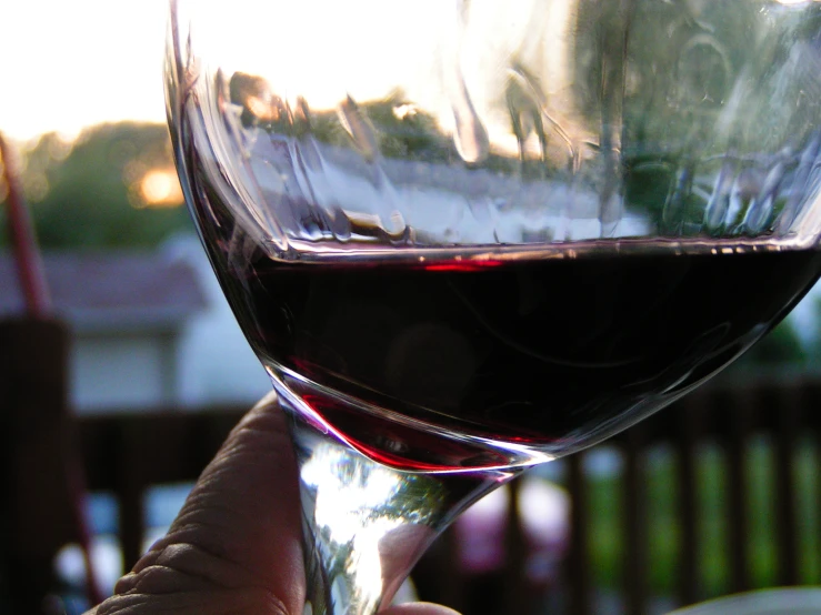
[[[156,484],[193,481],[218,450],[244,407],[202,409],[184,413],[172,410],[159,413],[83,417],[79,421],[83,458],[89,487],[110,491],[120,502],[120,540],[126,566],[140,555],[144,535],[141,498]],[[610,441],[623,458],[621,476],[620,517],[623,522],[624,567],[621,579],[624,611],[647,613],[649,608],[648,500],[644,475],[648,452],[668,445],[674,456],[674,491],[678,511],[680,550],[677,562],[674,601],[687,605],[710,597],[699,585],[700,554],[697,460],[700,444],[709,442],[719,448],[725,473],[728,528],[724,550],[729,563],[728,592],[752,588],[750,577],[750,477],[749,446],[754,437],[768,436],[773,446],[772,485],[770,494],[774,515],[777,585],[798,585],[800,555],[797,498],[799,486],[794,472],[795,445],[800,438],[821,442],[821,383],[793,381],[790,383],[752,383],[744,387],[713,387],[693,393],[651,419]],[[815,446],[818,455],[818,446]],[[572,614],[594,612],[594,586],[591,579],[590,527],[599,511],[592,510],[587,497],[589,478],[584,472],[585,454],[565,461],[564,484],[572,500],[571,542],[567,557],[563,587],[567,611]],[[821,461],[821,458],[819,458]],[[821,467],[821,464],[819,464]],[[821,471],[819,472],[821,476]],[[821,478],[819,478],[821,484]],[[819,497],[821,500],[821,496]],[[512,505],[511,500],[511,505]],[[815,505],[821,511],[821,502]],[[517,518],[515,514],[508,518]],[[821,534],[821,516],[815,521]],[[509,546],[517,540],[515,528],[509,528]],[[521,541],[521,535],[518,536]],[[447,541],[447,538],[445,538]],[[512,554],[508,569],[521,571],[524,547]],[[440,553],[441,555],[441,553]],[[441,588],[444,602],[459,593],[458,574],[441,576],[449,587]],[[515,578],[515,576],[514,576]],[[519,576],[521,578],[521,576]],[[805,581],[804,581],[805,582]],[[815,579],[821,583],[821,577]],[[510,601],[528,595],[515,583],[505,583]],[[467,591],[467,585],[464,588]],[[510,611],[505,611],[509,613]],[[521,612],[521,611],[519,611]],[[469,614],[470,615],[470,614]]]

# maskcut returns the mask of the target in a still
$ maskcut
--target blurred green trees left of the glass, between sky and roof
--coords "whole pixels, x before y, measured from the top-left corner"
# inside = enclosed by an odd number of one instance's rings
[[[47,134],[23,158],[21,179],[43,248],[150,248],[190,226],[184,208],[146,208],[137,192],[147,171],[172,169],[163,125],[103,124],[72,144]]]

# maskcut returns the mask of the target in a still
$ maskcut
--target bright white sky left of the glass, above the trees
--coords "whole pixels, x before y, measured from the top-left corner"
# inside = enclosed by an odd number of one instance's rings
[[[164,122],[167,0],[4,0],[0,131],[27,141],[123,119]]]

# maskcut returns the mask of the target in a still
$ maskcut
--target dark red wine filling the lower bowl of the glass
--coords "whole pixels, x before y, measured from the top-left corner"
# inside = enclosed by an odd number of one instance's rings
[[[821,271],[817,251],[678,245],[214,261],[280,391],[378,461],[443,471],[611,435],[750,347]]]

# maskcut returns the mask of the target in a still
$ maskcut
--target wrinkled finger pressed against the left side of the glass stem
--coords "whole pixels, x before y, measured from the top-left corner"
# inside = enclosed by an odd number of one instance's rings
[[[118,591],[143,593],[149,579],[157,586],[158,578],[167,588],[172,581],[166,576],[180,573],[180,578],[218,587],[262,588],[281,599],[286,612],[301,613],[299,512],[297,464],[286,416],[272,393],[231,432],[168,534]]]

